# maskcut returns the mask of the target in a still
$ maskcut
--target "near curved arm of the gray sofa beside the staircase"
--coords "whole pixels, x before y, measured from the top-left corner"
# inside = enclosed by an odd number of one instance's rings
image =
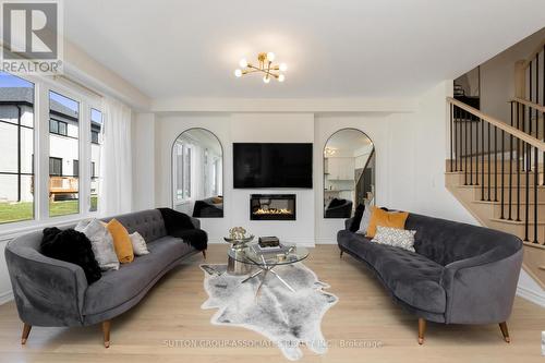
[[[448,264],[440,283],[447,294],[446,323],[493,324],[511,314],[523,250],[491,261],[494,250]]]

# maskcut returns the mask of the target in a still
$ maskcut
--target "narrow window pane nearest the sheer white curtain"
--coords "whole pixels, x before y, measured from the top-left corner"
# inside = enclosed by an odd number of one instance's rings
[[[100,194],[100,154],[102,153],[102,112],[90,109],[90,211],[98,210]],[[98,166],[98,169],[97,169]]]

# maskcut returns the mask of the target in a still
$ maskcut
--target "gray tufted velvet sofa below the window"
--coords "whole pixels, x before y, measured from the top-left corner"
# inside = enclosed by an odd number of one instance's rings
[[[102,277],[90,286],[80,266],[40,254],[41,231],[8,243],[5,259],[19,316],[24,323],[23,344],[32,326],[74,327],[102,323],[104,343],[108,348],[110,319],[138,303],[161,276],[198,252],[181,239],[167,234],[157,209],[116,218],[129,233],[141,233],[150,253],[121,265],[119,270],[102,273]],[[192,218],[192,222],[199,228],[197,219]]]

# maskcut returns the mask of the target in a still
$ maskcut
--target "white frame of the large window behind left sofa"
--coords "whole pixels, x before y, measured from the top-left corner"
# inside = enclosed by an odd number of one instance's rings
[[[105,123],[107,122],[106,113],[101,107],[101,97],[62,78],[51,80],[40,75],[19,74],[14,76],[34,84],[34,219],[0,223],[0,237],[15,235],[51,225],[69,226],[85,218],[98,217],[98,210],[90,210],[90,109],[94,108],[102,112],[102,120]],[[80,176],[77,177],[80,179],[80,208],[76,214],[55,217],[49,216],[49,136],[50,120],[52,119],[49,113],[49,92],[60,94],[80,104]],[[66,137],[69,136],[66,135]]]

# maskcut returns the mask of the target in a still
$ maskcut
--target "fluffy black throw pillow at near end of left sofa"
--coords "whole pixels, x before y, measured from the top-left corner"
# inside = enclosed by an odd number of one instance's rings
[[[57,227],[46,228],[40,247],[41,253],[47,257],[82,267],[88,285],[98,281],[102,277],[90,247],[90,241],[82,232],[73,229],[60,230]]]

